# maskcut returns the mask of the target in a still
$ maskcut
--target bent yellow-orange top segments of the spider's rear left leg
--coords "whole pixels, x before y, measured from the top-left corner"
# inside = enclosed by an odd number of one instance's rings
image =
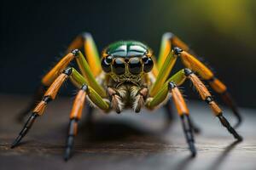
[[[84,46],[84,47],[83,47]],[[78,37],[76,37],[73,42],[70,43],[67,48],[67,52],[73,49],[84,48],[84,54],[88,64],[90,65],[90,70],[96,77],[102,71],[100,57],[96,48],[96,43],[89,32],[83,32]]]

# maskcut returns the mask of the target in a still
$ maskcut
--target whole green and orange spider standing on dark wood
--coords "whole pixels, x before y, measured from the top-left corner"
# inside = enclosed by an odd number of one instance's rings
[[[85,57],[79,51],[79,48],[82,47],[84,47]],[[215,92],[222,95],[224,102],[230,106],[237,117],[236,126],[238,126],[241,122],[241,116],[224,83],[214,77],[212,71],[196,59],[189,47],[172,33],[166,33],[162,37],[160,55],[157,60],[147,45],[136,41],[119,41],[110,44],[102,51],[101,60],[96,50],[96,44],[89,33],[76,37],[69,46],[68,52],[43,77],[42,84],[45,90],[42,91],[44,93],[39,93],[34,99],[34,103],[37,103],[37,99],[41,98],[38,105],[35,107],[31,105],[21,114],[24,116],[28,111],[32,111],[32,115],[28,118],[12,147],[15,147],[26,135],[35,119],[44,114],[46,105],[55,99],[61,84],[67,79],[70,79],[73,85],[79,88],[79,93],[74,99],[70,114],[65,160],[69,158],[73,148],[73,139],[77,134],[77,126],[85,99],[88,99],[91,105],[105,113],[112,110],[120,113],[127,108],[140,112],[143,107],[153,110],[160,105],[167,105],[166,113],[171,118],[172,111],[168,105],[172,105],[171,100],[169,100],[172,97],[177,113],[181,117],[189,150],[192,156],[195,156],[193,137],[195,125],[189,119],[189,110],[178,88],[186,79],[193,83],[201,99],[207,102],[222,125],[236,139],[241,140],[241,136],[230,126],[197,74],[209,83]],[[73,67],[68,67],[73,59],[77,61],[79,71]],[[177,59],[182,60],[184,69],[169,77]],[[91,110],[87,114],[91,114]]]

